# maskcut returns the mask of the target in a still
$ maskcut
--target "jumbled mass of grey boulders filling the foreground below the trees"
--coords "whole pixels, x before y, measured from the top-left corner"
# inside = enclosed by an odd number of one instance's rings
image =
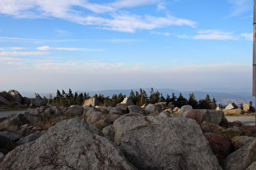
[[[228,122],[223,111],[189,105],[141,108],[126,98],[107,108],[42,106],[4,117],[0,127],[6,130],[0,139],[10,143],[0,148],[6,149],[1,169],[255,169],[256,165],[256,138],[245,136],[256,134],[255,126]],[[7,130],[20,136],[11,139]]]

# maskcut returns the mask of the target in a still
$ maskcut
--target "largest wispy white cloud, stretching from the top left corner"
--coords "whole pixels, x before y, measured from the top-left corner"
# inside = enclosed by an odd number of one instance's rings
[[[0,2],[0,13],[14,15],[20,18],[55,17],[67,19],[72,22],[94,25],[96,28],[108,29],[118,32],[135,32],[137,29],[152,30],[171,25],[189,25],[195,27],[196,23],[189,19],[179,19],[167,15],[166,17],[154,17],[150,15],[138,16],[116,12],[119,8],[128,8],[146,4],[159,4],[159,0],[119,0],[112,3],[97,4],[82,0],[2,0]],[[102,18],[97,15],[88,15],[76,11],[73,6],[80,6],[94,13],[111,11],[110,17]],[[115,12],[114,12],[115,11]],[[117,15],[119,13],[119,15]]]

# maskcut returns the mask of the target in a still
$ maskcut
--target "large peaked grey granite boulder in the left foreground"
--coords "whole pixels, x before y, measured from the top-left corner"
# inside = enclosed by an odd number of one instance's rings
[[[59,122],[36,141],[16,147],[0,168],[135,169],[113,142],[92,133],[80,118]]]

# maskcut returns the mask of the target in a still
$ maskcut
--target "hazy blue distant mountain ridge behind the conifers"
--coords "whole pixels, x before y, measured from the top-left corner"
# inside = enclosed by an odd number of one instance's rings
[[[142,88],[142,90],[145,90],[148,96],[150,96],[151,88]],[[77,92],[86,92],[89,93],[89,96],[94,96],[95,94],[102,94],[103,96],[113,96],[114,94],[118,95],[119,93],[122,93],[125,96],[130,96],[130,92],[138,91],[140,93],[139,88],[134,89],[116,89],[116,90],[102,90],[102,91],[73,91],[73,93]],[[206,95],[208,94],[210,96],[210,99],[213,99],[215,97],[215,100],[217,100],[217,103],[219,104],[230,104],[232,102],[235,102],[236,104],[249,104],[249,101],[253,102],[253,105],[255,105],[255,98],[252,96],[249,92],[234,92],[234,93],[223,93],[223,92],[210,92],[210,91],[177,91],[171,88],[163,88],[163,89],[157,89],[154,88],[154,91],[159,91],[163,94],[164,97],[171,96],[172,92],[175,93],[176,97],[180,96],[180,92],[182,96],[184,96],[186,99],[189,99],[189,94],[193,93],[197,100],[204,99]],[[66,91],[67,92],[67,91]],[[20,94],[22,96],[26,96],[29,98],[35,97],[35,92],[31,91],[21,91]],[[39,93],[41,97],[46,96],[48,98],[50,94],[54,97],[55,93]]]

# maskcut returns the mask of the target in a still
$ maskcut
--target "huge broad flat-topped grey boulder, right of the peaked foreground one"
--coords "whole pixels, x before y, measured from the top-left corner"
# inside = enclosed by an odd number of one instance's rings
[[[138,169],[221,169],[192,119],[127,114],[113,126],[115,143]]]

